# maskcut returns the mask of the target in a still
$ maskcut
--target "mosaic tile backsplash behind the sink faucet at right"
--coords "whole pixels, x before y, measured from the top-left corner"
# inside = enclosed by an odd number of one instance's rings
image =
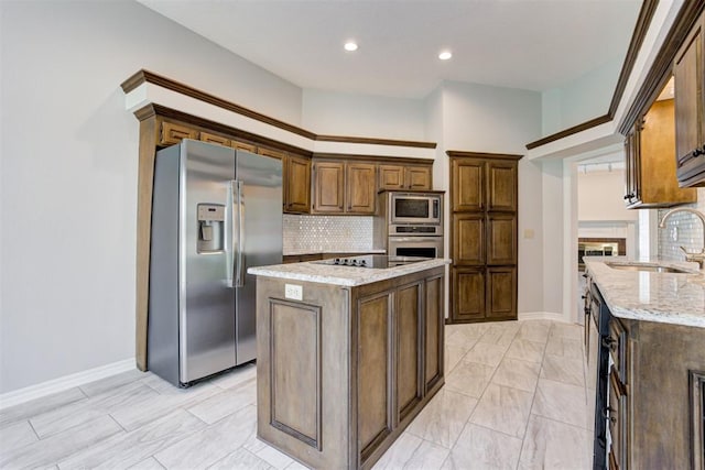
[[[697,203],[681,207],[690,207],[705,214],[705,188],[697,189]],[[659,209],[659,220],[669,209]],[[663,260],[683,261],[683,252],[679,247],[688,251],[703,249],[703,223],[688,212],[674,214],[669,218],[665,229],[659,229],[659,256]]]

